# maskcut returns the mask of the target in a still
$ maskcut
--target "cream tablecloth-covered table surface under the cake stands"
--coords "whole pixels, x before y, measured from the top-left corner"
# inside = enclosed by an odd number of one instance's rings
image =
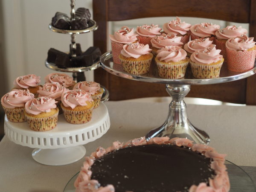
[[[116,140],[143,137],[166,120],[167,102],[105,102],[111,126],[101,138],[87,143],[86,156],[98,146],[107,148]],[[256,183],[256,106],[188,105],[189,120],[210,136],[209,146],[241,166]],[[72,124],[70,124],[72,129]],[[84,158],[65,166],[46,166],[32,158],[33,148],[0,142],[0,191],[62,192],[83,165]]]

